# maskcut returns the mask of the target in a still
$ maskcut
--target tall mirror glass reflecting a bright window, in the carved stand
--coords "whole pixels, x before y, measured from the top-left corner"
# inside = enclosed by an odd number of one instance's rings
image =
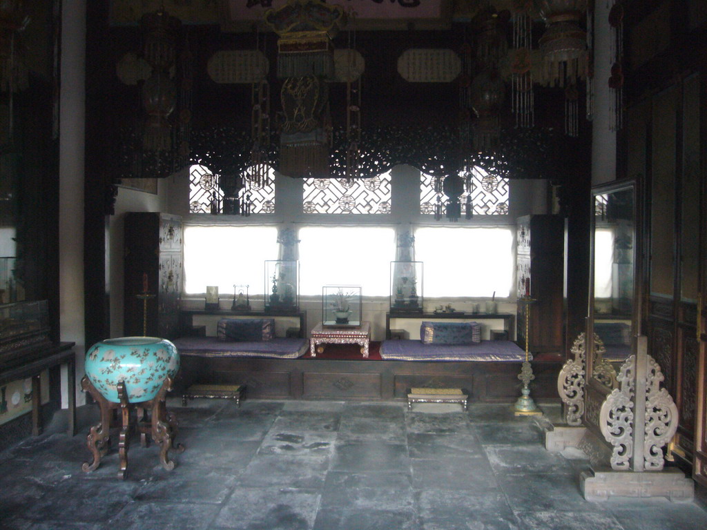
[[[631,355],[636,274],[636,203],[632,184],[594,193],[590,377],[612,387]]]

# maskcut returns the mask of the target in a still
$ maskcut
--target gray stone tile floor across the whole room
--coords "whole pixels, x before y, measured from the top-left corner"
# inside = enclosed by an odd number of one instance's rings
[[[588,462],[544,449],[510,406],[170,399],[177,466],[134,442],[83,473],[83,432],[47,432],[0,454],[0,528],[52,530],[704,530],[701,502],[587,502]],[[556,420],[559,407],[544,407]],[[698,497],[703,498],[702,488]]]

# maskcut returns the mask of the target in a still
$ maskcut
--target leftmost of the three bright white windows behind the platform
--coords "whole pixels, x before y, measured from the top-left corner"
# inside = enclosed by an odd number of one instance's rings
[[[277,228],[273,226],[187,226],[184,269],[187,294],[233,294],[234,284],[250,285],[250,295],[265,288],[265,260],[277,259]]]

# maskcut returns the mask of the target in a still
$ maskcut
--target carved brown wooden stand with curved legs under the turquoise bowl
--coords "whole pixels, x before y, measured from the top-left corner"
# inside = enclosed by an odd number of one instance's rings
[[[118,383],[119,403],[108,401],[91,384],[88,377],[81,379],[81,388],[93,396],[93,399],[100,407],[100,423],[90,428],[86,442],[88,449],[93,454],[92,462],[84,462],[81,469],[83,471],[94,471],[100,465],[100,459],[110,448],[110,428],[116,411],[120,411],[121,423],[118,435],[118,454],[120,457],[120,469],[118,478],[125,478],[128,466],[128,447],[132,431],[140,433],[140,442],[143,447],[148,445],[148,435],[160,446],[160,463],[167,471],[172,471],[175,467],[173,460],[169,459],[168,452],[175,449],[183,452],[185,447],[182,444],[175,444],[174,439],[177,432],[177,418],[174,413],[168,412],[165,405],[165,396],[172,389],[172,379],[167,377],[160,387],[157,395],[148,401],[130,403],[127,399],[125,384]],[[132,414],[131,411],[135,413]],[[133,417],[136,418],[133,420]]]

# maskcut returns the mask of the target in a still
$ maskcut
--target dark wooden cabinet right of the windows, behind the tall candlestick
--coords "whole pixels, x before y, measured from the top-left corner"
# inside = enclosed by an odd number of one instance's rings
[[[529,312],[530,352],[562,353],[564,219],[552,215],[519,217],[516,237],[518,344],[525,348]],[[533,300],[530,304],[520,301],[527,297]]]

